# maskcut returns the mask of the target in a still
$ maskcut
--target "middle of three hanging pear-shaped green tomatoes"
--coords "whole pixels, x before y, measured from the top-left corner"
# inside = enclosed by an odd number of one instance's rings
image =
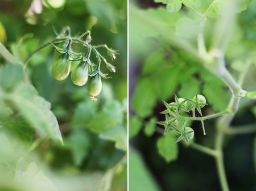
[[[85,62],[79,63],[77,67],[71,73],[71,80],[74,84],[78,86],[85,85],[88,81],[88,70],[89,65]]]

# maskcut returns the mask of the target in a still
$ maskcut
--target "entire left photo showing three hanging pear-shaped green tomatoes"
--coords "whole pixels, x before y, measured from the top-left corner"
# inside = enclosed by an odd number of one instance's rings
[[[127,1],[0,1],[0,190],[127,190]]]

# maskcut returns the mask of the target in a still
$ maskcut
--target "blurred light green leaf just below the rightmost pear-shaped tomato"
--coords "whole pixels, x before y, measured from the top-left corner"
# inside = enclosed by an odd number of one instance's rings
[[[109,127],[114,127],[123,120],[122,105],[118,101],[108,101],[102,110],[92,117],[85,124],[87,128],[94,132],[102,132]]]

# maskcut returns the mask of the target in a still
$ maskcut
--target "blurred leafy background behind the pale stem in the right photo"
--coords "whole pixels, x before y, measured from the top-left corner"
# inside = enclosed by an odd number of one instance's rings
[[[204,13],[211,2],[201,1],[196,10]],[[225,58],[227,68],[236,80],[245,68],[247,57],[255,52],[255,10],[256,2],[253,1],[247,10],[236,14],[231,30]],[[203,94],[208,105],[202,112],[209,115],[224,110],[232,96],[224,82],[172,44],[170,39],[177,30],[177,20],[183,17],[200,19],[185,6],[179,13],[171,14],[166,5],[154,0],[129,1],[129,189],[133,191],[221,190],[212,157],[182,143],[166,146],[169,147],[169,158],[159,153],[163,126],[157,126],[155,122],[165,120],[160,114],[166,109],[162,100],[174,102],[174,93],[191,99],[196,94]],[[207,20],[207,49],[214,39],[217,19]],[[183,32],[176,31],[176,35],[185,36],[184,40],[196,47],[192,28],[184,28]],[[250,66],[242,86],[247,91],[256,90],[255,63]],[[232,127],[249,125],[256,128],[255,122],[255,101],[241,101]],[[207,135],[203,135],[200,122],[190,124],[195,131],[195,142],[213,147],[215,124],[216,119],[205,121]],[[255,153],[255,133],[226,136],[224,159],[230,190],[256,190]]]

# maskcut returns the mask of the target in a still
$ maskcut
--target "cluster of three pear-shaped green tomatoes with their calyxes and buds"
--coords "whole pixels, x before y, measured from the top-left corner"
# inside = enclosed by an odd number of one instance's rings
[[[69,28],[65,29],[69,31]],[[65,33],[62,32],[61,34]],[[82,36],[85,34],[88,34],[89,36],[86,38],[85,41],[80,40]],[[65,36],[64,40],[60,40],[61,43],[63,43],[62,47],[57,47],[52,42],[51,44],[56,49],[57,52],[60,53],[59,57],[54,61],[52,65],[52,76],[56,80],[65,80],[65,78],[68,77],[70,71],[71,71],[71,63],[72,61],[80,61],[80,63],[77,65],[77,67],[72,71],[71,73],[71,80],[73,84],[77,86],[83,86],[87,82],[87,90],[90,95],[90,98],[93,100],[97,100],[94,98],[95,96],[98,96],[100,94],[102,89],[102,82],[101,78],[109,78],[107,77],[108,74],[103,74],[100,71],[100,63],[101,59],[105,62],[106,67],[111,71],[115,72],[115,67],[109,63],[106,62],[106,59],[100,55],[100,53],[97,51],[96,48],[104,47],[107,49],[109,55],[112,57],[112,59],[115,59],[115,54],[117,51],[114,51],[113,49],[108,48],[106,45],[98,45],[93,46],[90,45],[90,41],[92,38],[90,37],[90,32],[85,32],[82,36],[80,36],[78,39],[71,38],[68,34]],[[61,35],[60,35],[61,36]],[[60,36],[58,38],[60,38]],[[58,39],[57,38],[57,39]],[[86,53],[75,53],[71,50],[71,45],[73,42],[80,43],[86,47]],[[93,50],[94,53],[96,53],[98,64],[93,65],[90,63],[90,52]],[[94,67],[96,66],[96,67]]]

